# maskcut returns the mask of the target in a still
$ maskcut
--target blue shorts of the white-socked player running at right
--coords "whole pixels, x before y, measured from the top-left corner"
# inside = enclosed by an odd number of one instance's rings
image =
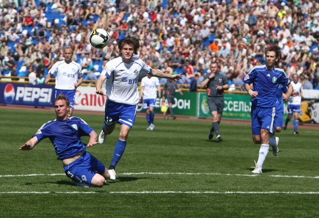
[[[273,132],[276,107],[258,107],[251,105],[251,129],[253,135],[260,135],[260,129]]]

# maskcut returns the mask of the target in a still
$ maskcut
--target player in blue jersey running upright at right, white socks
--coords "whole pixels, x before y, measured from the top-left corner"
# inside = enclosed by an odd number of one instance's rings
[[[283,99],[288,101],[292,85],[284,70],[275,68],[281,59],[280,48],[266,49],[266,65],[255,66],[244,78],[245,89],[253,99],[251,106],[252,137],[255,144],[261,144],[259,157],[253,173],[262,173],[269,150],[269,132],[273,133],[276,115],[276,93],[280,84],[288,87]],[[252,88],[250,84],[253,84]],[[273,150],[278,148],[274,145]]]

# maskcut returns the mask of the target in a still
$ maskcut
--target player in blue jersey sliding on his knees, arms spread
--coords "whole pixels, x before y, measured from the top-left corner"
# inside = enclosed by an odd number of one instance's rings
[[[32,150],[42,139],[51,140],[55,153],[62,160],[65,174],[77,185],[84,187],[102,187],[109,174],[105,165],[97,158],[85,151],[98,142],[97,133],[82,119],[78,117],[69,118],[69,100],[60,94],[55,98],[54,110],[56,119],[49,121],[29,139],[20,150]],[[90,136],[89,142],[84,144],[81,136]]]

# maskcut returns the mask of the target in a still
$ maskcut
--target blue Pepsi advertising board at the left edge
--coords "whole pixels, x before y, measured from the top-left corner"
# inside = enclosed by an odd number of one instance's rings
[[[0,83],[0,104],[53,107],[53,85]]]

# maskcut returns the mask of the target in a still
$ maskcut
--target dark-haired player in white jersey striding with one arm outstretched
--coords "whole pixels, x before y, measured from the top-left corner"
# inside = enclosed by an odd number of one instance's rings
[[[142,60],[133,57],[139,48],[138,39],[129,37],[118,42],[120,57],[106,63],[104,70],[96,82],[96,93],[105,95],[102,84],[106,80],[105,121],[99,135],[99,143],[104,142],[106,135],[111,134],[115,124],[120,124],[119,139],[115,145],[113,159],[109,166],[110,179],[116,179],[115,166],[126,147],[126,140],[134,124],[136,108],[139,101],[137,80],[141,73],[168,79],[181,79],[180,74],[165,74],[152,69]]]

